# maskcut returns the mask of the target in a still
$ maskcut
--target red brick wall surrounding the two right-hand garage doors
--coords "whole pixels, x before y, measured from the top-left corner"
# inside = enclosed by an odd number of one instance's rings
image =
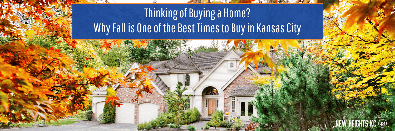
[[[155,88],[152,89],[152,93],[153,94],[143,94],[143,98],[139,97],[139,102],[133,102],[132,99],[136,99],[135,93],[136,93],[136,89],[129,89],[128,87],[118,87],[117,89],[115,89],[115,91],[118,92],[117,97],[119,98],[120,101],[118,101],[118,103],[121,102],[130,102],[134,104],[134,123],[138,123],[138,105],[141,103],[154,103],[159,105],[158,107],[158,114],[163,113],[166,111],[166,103],[164,102],[164,97],[158,92],[158,90],[156,90]],[[115,114],[115,116],[117,116]]]

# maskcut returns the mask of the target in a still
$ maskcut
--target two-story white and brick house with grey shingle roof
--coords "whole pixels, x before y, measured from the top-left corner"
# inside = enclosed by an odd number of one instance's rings
[[[233,50],[228,52],[196,53],[192,56],[182,53],[168,61],[151,61],[146,65],[155,68],[149,75],[154,79],[151,83],[155,87],[153,94],[144,94],[139,102],[135,99],[135,91],[129,87],[116,85],[114,90],[119,94],[121,107],[116,108],[116,121],[119,123],[141,123],[149,121],[166,111],[164,96],[166,90],[173,91],[178,82],[188,87],[184,94],[192,94],[188,101],[189,108],[196,107],[202,118],[211,118],[211,115],[222,110],[229,112],[229,116],[248,120],[250,115],[256,114],[251,101],[254,100],[255,91],[258,90],[246,76],[254,74],[269,75],[271,70],[267,66],[258,64],[258,68],[250,63],[245,70],[240,64],[242,52]],[[275,52],[271,51],[271,58],[275,59]],[[140,64],[134,63],[131,67],[137,68]],[[130,75],[126,72],[125,76]],[[93,114],[92,119],[98,120],[102,114],[105,103],[105,88],[92,92]],[[225,117],[229,119],[229,117]]]

